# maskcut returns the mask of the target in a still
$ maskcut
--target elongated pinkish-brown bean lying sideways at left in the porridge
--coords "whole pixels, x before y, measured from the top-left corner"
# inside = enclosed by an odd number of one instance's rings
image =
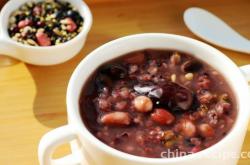
[[[129,125],[131,118],[127,112],[111,112],[101,117],[101,123],[105,125]]]

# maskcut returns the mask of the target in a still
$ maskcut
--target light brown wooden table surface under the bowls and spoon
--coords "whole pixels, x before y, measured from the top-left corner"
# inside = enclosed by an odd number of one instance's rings
[[[104,2],[105,1],[105,2]],[[208,9],[250,38],[250,0],[88,0],[94,16],[86,46],[72,60],[56,66],[27,65],[0,56],[0,164],[35,165],[37,146],[46,132],[64,125],[65,94],[77,64],[98,46],[129,34],[174,33],[196,38],[184,25],[183,11]],[[0,1],[0,4],[3,1]],[[250,56],[218,48],[239,66]],[[243,146],[250,152],[250,128]],[[69,152],[68,146],[56,156]],[[249,165],[241,159],[239,165]]]

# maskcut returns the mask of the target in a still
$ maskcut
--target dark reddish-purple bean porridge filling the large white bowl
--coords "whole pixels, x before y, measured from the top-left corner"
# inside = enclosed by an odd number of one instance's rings
[[[229,133],[237,115],[219,72],[189,54],[155,49],[100,66],[83,87],[80,110],[100,141],[150,158],[202,151]]]

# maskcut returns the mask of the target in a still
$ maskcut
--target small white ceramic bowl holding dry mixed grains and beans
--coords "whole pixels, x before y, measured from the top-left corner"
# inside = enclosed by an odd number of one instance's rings
[[[60,45],[34,47],[18,43],[12,40],[8,34],[8,20],[11,13],[29,1],[32,0],[10,0],[2,8],[0,13],[0,54],[34,65],[55,65],[73,58],[84,46],[92,26],[92,14],[88,6],[82,0],[65,0],[76,7],[84,18],[83,30],[72,40]]]

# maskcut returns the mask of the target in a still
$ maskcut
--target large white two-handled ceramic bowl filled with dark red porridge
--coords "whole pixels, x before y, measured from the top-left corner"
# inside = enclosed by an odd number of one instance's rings
[[[93,136],[82,122],[79,112],[79,97],[88,77],[101,64],[128,52],[155,48],[179,50],[210,64],[218,70],[230,84],[238,104],[238,116],[231,132],[219,143],[196,154],[179,158],[156,159],[130,155],[115,150]],[[200,41],[171,34],[138,34],[111,41],[90,53],[75,69],[67,91],[67,110],[69,123],[47,133],[39,145],[39,160],[44,164],[66,162],[84,164],[83,156],[91,165],[236,165],[235,156],[219,156],[221,154],[239,155],[247,131],[250,115],[250,96],[245,77],[250,78],[250,66],[239,69],[228,57],[215,48]],[[54,149],[66,142],[75,140],[73,154],[57,161],[51,161]],[[74,160],[74,161],[73,161]]]

